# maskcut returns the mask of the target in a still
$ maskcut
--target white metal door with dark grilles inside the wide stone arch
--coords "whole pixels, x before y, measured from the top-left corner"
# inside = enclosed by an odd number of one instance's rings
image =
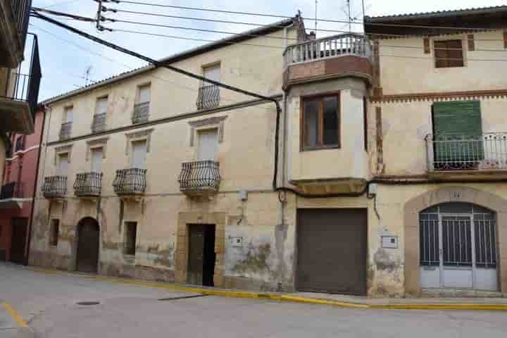
[[[420,286],[498,290],[494,211],[464,202],[419,213]]]

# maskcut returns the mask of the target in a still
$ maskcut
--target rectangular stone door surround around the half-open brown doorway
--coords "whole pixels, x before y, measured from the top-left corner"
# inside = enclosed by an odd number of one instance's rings
[[[223,287],[225,272],[225,213],[179,213],[177,221],[176,239],[176,274],[175,281],[187,283],[188,256],[189,256],[189,225],[205,224],[215,225],[215,287]]]

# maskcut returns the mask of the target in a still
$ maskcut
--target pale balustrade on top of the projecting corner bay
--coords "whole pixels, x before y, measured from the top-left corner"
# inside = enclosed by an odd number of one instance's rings
[[[337,56],[363,56],[371,59],[371,42],[363,35],[346,33],[293,44],[285,49],[284,62],[287,66]]]

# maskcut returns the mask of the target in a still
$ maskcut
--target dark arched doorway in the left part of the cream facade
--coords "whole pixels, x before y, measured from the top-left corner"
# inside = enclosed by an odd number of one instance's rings
[[[99,223],[83,218],[77,225],[76,270],[96,273],[99,265]]]

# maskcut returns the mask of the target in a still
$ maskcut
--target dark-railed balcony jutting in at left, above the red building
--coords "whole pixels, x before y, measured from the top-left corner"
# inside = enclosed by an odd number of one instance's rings
[[[0,0],[1,1],[1,0]],[[30,65],[25,63],[8,77],[5,94],[0,96],[0,130],[31,134],[34,130],[35,111],[39,98],[41,68],[37,36],[33,35]],[[28,42],[27,42],[28,44]],[[1,54],[1,53],[0,53]],[[23,73],[27,69],[28,73]]]

